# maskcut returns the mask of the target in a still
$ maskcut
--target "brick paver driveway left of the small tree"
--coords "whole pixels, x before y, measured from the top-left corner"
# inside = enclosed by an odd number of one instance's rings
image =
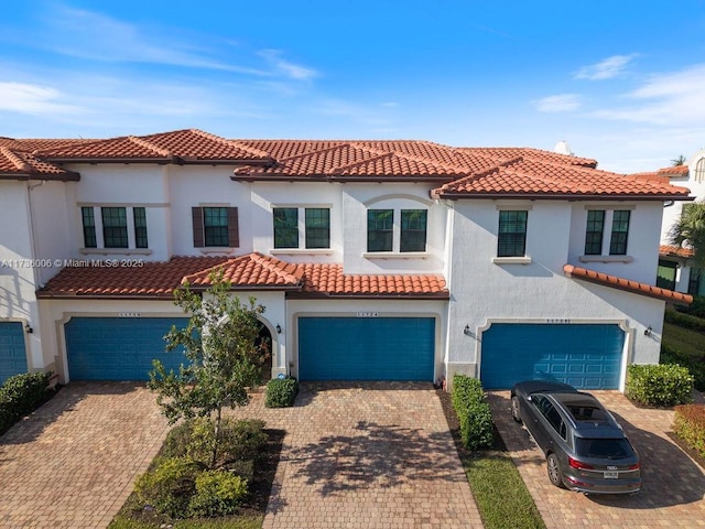
[[[106,527],[166,431],[144,385],[62,388],[0,438],[0,527]]]

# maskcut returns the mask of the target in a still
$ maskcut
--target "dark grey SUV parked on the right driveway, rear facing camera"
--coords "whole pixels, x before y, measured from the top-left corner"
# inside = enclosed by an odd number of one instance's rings
[[[511,415],[546,456],[556,487],[590,494],[630,494],[641,488],[639,455],[621,427],[590,393],[545,380],[517,384]]]

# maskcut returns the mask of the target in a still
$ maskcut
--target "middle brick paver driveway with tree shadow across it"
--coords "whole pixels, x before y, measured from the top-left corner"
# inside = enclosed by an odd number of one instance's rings
[[[262,400],[237,414],[286,431],[265,529],[482,527],[430,384],[304,384],[294,408]]]

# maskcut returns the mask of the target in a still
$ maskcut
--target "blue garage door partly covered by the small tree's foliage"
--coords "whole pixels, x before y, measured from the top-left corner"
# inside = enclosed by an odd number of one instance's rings
[[[64,325],[72,380],[148,380],[152,359],[177,369],[183,353],[166,353],[163,336],[185,317],[73,317]]]

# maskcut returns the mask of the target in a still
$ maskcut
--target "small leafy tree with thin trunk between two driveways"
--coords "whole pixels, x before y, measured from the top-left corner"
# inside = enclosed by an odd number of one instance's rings
[[[210,467],[216,465],[223,408],[249,402],[248,389],[262,384],[264,344],[258,341],[264,312],[250,298],[249,306],[230,293],[223,269],[210,276],[203,298],[184,284],[174,292],[174,303],[189,314],[184,328],[172,326],[164,339],[166,350],[183,348],[187,365],[178,373],[153,360],[148,387],[159,393],[156,402],[173,424],[180,419],[207,417],[214,422]],[[215,417],[214,417],[215,415]]]

